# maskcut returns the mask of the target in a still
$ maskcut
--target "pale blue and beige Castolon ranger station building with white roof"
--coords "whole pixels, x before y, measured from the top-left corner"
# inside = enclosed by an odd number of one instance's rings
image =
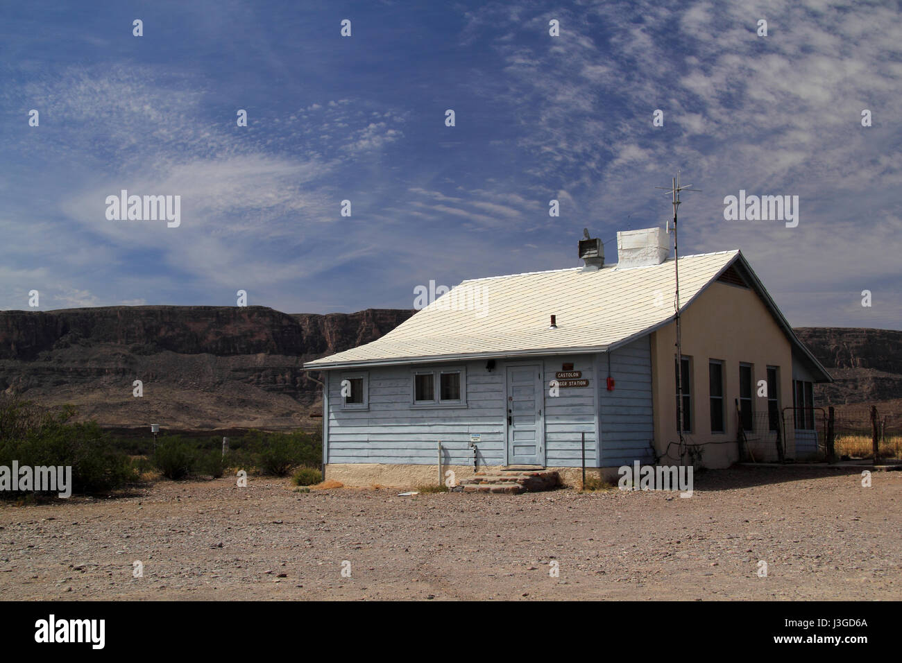
[[[667,234],[619,233],[618,247],[616,265],[587,240],[583,267],[464,281],[373,343],[305,364],[325,384],[327,478],[418,485],[530,465],[571,482],[583,463],[686,462]],[[812,385],[831,378],[741,252],[681,256],[679,292],[684,437],[701,464],[775,460],[778,443],[815,453]]]

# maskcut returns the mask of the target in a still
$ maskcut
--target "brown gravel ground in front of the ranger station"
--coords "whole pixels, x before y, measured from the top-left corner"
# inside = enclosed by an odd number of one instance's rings
[[[161,482],[0,507],[13,599],[902,599],[902,473],[734,468],[695,494]],[[768,576],[759,577],[759,560]],[[133,577],[133,562],[143,577]],[[342,576],[343,562],[351,576]],[[549,570],[557,562],[559,576]],[[345,565],[346,567],[347,565]]]

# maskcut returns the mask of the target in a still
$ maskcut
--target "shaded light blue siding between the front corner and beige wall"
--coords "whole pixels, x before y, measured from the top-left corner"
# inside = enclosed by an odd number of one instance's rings
[[[613,391],[607,391],[608,358],[598,355],[599,420],[602,428],[602,466],[651,463],[655,434],[651,405],[651,346],[644,336],[611,353]]]

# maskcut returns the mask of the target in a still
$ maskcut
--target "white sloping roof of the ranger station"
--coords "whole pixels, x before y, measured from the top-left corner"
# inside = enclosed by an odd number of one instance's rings
[[[739,254],[680,258],[681,309]],[[623,270],[611,265],[583,272],[576,267],[463,281],[382,338],[304,366],[603,350],[673,318],[674,285],[672,259]],[[548,329],[552,315],[557,329]]]

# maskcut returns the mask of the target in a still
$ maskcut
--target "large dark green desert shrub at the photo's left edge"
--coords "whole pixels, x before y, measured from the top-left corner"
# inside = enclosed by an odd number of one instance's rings
[[[73,493],[99,493],[136,480],[131,459],[97,422],[69,423],[70,406],[41,410],[29,401],[0,399],[0,465],[70,466]],[[5,492],[9,494],[9,492]]]

